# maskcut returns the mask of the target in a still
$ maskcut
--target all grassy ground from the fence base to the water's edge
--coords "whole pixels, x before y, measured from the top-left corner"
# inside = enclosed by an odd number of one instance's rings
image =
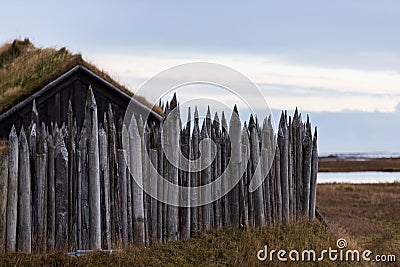
[[[345,238],[349,249],[369,249],[374,254],[400,257],[400,184],[318,186],[317,203],[332,226],[320,222],[291,224],[264,229],[223,229],[201,233],[191,240],[129,248],[112,255],[92,253],[79,258],[63,253],[44,255],[6,254],[1,266],[282,266],[259,262],[256,253],[268,245],[290,251],[336,248]],[[285,266],[370,266],[346,262],[288,262]],[[388,266],[376,264],[372,266]],[[397,266],[393,264],[392,266]]]

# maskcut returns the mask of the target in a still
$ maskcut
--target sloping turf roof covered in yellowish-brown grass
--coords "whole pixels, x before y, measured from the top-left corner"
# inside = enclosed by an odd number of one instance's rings
[[[37,48],[29,39],[0,46],[0,113],[24,100],[73,67],[82,65],[130,96],[133,93],[107,73],[65,48]],[[139,102],[151,107],[141,96]],[[159,107],[153,108],[162,114]]]

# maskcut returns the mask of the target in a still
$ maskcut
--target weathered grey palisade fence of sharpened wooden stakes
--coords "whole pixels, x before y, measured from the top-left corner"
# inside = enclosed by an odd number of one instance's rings
[[[165,105],[165,116],[177,105],[174,96]],[[317,132],[312,136],[308,118],[303,123],[297,110],[293,118],[282,113],[277,134],[271,117],[260,126],[253,116],[248,125],[232,116],[228,127],[224,113],[221,120],[218,114],[211,119],[210,110],[200,126],[197,109],[193,123],[189,109],[186,125],[181,127],[175,116],[161,131],[162,125],[144,124],[141,118],[122,126],[122,118],[114,118],[111,106],[99,122],[89,88],[85,112],[82,129],[76,126],[72,108],[68,122],[58,126],[40,123],[35,107],[28,129],[19,129],[17,135],[12,128],[8,155],[0,158],[2,252],[144,246],[189,238],[202,230],[262,227],[315,217]],[[128,133],[129,151],[123,149],[122,131]],[[205,158],[215,156],[211,166],[199,172],[178,170],[161,149],[162,134],[170,135],[167,140],[172,142],[167,145],[180,149],[188,159],[199,158],[200,151]],[[235,154],[233,145],[240,147]],[[230,161],[234,167],[225,176],[245,166],[239,182],[228,194],[198,207],[162,203],[132,178],[156,175],[149,168],[152,164],[168,181],[194,187],[214,181]],[[262,181],[253,192],[248,190],[251,177]],[[229,186],[229,179],[221,181],[213,190]],[[168,194],[162,180],[144,186],[157,196]],[[174,197],[195,202],[202,196],[193,191]]]

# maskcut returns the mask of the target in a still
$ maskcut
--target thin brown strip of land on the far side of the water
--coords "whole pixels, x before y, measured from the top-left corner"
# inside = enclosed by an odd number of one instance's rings
[[[400,158],[320,157],[319,172],[400,172]]]

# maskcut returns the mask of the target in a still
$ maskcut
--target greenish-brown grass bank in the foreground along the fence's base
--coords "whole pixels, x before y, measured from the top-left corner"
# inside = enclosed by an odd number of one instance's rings
[[[62,253],[47,255],[7,254],[0,265],[24,266],[352,266],[346,262],[259,262],[256,253],[270,249],[315,249],[334,247],[337,236],[319,222],[263,229],[223,229],[201,233],[190,240],[171,241],[151,248],[132,247],[116,254],[92,253],[80,258]],[[354,247],[353,247],[354,248]]]

